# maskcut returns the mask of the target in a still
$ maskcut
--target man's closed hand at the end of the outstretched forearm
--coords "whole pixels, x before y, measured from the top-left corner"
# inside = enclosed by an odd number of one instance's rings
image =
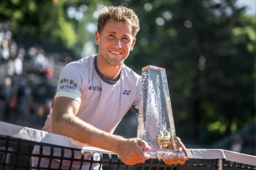
[[[143,163],[149,159],[149,154],[144,153],[144,150],[150,150],[151,147],[146,141],[139,138],[130,138],[123,141],[120,146],[117,146],[117,154],[122,162],[126,165],[135,165]]]

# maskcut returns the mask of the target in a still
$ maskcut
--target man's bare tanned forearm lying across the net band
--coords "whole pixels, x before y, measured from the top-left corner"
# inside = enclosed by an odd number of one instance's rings
[[[65,114],[58,118],[53,116],[52,131],[90,146],[113,152],[116,152],[117,146],[126,140],[121,136],[102,131],[71,114]]]

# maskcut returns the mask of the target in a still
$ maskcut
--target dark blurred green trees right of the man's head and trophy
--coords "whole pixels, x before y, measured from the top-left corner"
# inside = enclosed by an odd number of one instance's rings
[[[256,23],[235,2],[112,1],[140,18],[126,64],[138,73],[149,64],[166,69],[177,133],[198,144],[254,120]]]

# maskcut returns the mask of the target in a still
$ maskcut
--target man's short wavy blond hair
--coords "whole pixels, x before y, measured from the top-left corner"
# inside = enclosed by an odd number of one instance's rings
[[[139,32],[139,19],[132,9],[123,6],[103,7],[98,18],[98,32],[101,33],[109,19],[125,22],[132,27],[132,36],[135,38]]]

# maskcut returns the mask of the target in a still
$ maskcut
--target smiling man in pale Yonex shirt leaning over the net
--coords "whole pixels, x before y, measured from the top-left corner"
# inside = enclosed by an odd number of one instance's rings
[[[99,147],[118,154],[126,165],[145,162],[150,146],[139,138],[112,134],[130,107],[139,109],[141,77],[123,62],[133,50],[139,20],[125,7],[104,7],[98,18],[98,55],[67,64],[61,71],[53,109],[43,130],[70,137],[77,145]],[[129,90],[129,95],[123,94]],[[183,164],[186,157],[165,159]],[[63,163],[63,162],[62,162]]]

